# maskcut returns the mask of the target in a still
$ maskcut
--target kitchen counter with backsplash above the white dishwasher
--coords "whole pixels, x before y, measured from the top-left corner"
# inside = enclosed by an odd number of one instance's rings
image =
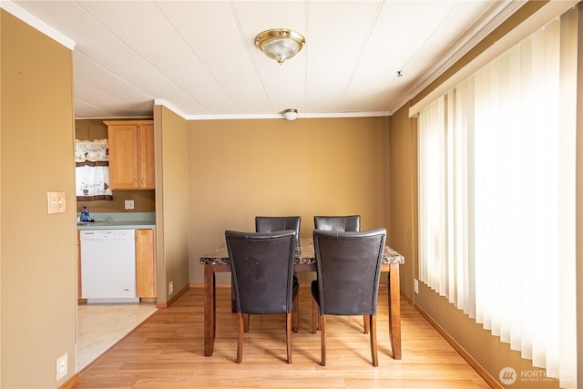
[[[95,221],[77,221],[77,230],[139,230],[156,228],[155,212],[95,212],[90,213],[90,217]]]

